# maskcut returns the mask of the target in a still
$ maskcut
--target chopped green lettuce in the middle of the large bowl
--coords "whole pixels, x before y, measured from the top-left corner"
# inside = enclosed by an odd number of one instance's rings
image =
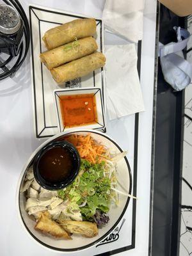
[[[92,164],[81,159],[76,180],[65,191],[58,191],[60,198],[70,200],[70,211],[81,211],[84,220],[92,220],[97,210],[108,212],[111,201],[111,181],[104,177],[105,162]]]

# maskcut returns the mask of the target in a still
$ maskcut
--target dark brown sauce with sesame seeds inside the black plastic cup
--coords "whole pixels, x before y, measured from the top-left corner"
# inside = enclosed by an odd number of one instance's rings
[[[58,183],[70,177],[73,162],[74,156],[68,148],[52,147],[40,158],[38,170],[45,181]]]

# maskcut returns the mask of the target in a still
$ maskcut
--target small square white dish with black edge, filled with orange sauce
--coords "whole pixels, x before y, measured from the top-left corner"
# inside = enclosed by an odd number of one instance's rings
[[[100,88],[54,90],[58,129],[104,129],[105,116]]]

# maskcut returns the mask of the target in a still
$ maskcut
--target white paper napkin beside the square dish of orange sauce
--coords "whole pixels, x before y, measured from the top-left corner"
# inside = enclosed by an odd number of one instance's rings
[[[106,87],[109,119],[144,111],[134,44],[106,47]]]

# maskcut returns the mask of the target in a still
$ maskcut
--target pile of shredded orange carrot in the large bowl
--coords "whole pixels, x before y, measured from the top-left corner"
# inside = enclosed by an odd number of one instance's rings
[[[81,158],[86,159],[91,163],[100,163],[100,161],[103,161],[104,159],[109,159],[109,157],[106,156],[106,154],[108,155],[106,148],[93,140],[90,134],[86,136],[77,134],[70,135],[66,137],[65,140],[74,144]]]

